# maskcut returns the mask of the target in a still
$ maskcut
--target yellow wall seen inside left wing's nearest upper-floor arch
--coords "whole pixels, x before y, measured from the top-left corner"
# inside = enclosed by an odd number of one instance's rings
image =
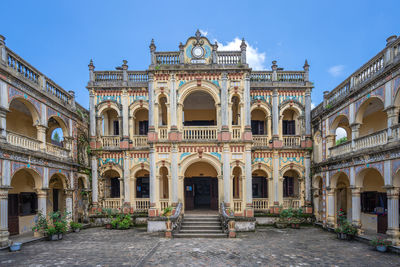
[[[10,111],[6,117],[7,130],[36,139],[37,129],[33,126],[32,117],[13,108]]]

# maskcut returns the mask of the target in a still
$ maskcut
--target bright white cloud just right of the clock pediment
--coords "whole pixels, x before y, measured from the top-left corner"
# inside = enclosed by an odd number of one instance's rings
[[[238,51],[240,50],[240,44],[242,40],[236,37],[233,41],[228,42],[227,44],[222,44],[218,42],[218,50],[225,50],[225,51]],[[246,59],[247,63],[251,68],[254,70],[264,70],[265,69],[265,53],[259,52],[257,47],[250,45],[248,42],[247,49],[246,49]]]

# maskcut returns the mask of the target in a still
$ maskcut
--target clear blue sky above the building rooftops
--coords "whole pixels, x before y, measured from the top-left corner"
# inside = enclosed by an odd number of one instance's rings
[[[313,103],[400,34],[400,1],[4,1],[6,45],[88,107],[88,63],[112,70],[150,62],[157,50],[178,50],[197,28],[224,46],[244,37],[251,64],[286,70],[310,64]],[[239,47],[238,47],[239,49]],[[249,49],[250,50],[250,49]]]

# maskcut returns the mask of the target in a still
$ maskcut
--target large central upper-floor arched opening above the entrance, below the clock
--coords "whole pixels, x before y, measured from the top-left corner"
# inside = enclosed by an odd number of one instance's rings
[[[184,126],[217,125],[215,101],[204,91],[194,91],[183,101]]]

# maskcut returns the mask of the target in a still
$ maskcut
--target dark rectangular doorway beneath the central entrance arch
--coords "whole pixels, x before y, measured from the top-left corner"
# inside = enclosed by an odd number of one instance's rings
[[[218,180],[211,177],[185,179],[185,210],[218,210]]]

